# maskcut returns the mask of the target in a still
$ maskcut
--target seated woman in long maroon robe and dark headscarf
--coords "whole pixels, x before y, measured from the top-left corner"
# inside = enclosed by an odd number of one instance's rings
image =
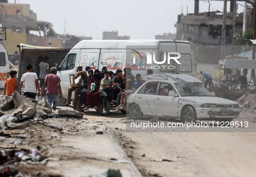
[[[91,77],[91,80],[88,84],[88,93],[86,95],[86,109],[89,109],[90,107],[94,107],[94,109],[97,111],[98,107],[97,105],[100,104],[101,98],[100,98],[100,81],[102,79],[102,76],[100,75],[100,70],[94,71],[94,76]],[[91,83],[95,83],[95,89],[94,91],[91,91]],[[90,106],[90,107],[89,107]]]

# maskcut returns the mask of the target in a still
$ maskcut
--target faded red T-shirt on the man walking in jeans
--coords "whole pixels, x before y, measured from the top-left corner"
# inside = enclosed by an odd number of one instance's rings
[[[58,82],[61,82],[59,76],[56,74],[48,74],[45,77],[45,82],[47,82],[46,94],[58,94]]]

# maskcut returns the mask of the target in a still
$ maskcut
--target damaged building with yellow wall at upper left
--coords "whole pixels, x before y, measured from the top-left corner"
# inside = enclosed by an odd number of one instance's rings
[[[36,13],[29,4],[8,3],[0,0],[0,23],[6,27],[5,47],[8,55],[14,54],[17,44],[45,47],[71,48],[79,41],[91,37],[60,35],[50,22],[37,21]]]

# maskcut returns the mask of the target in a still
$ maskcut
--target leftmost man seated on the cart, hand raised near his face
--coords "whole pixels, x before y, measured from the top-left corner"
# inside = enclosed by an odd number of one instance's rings
[[[75,106],[78,102],[78,92],[81,91],[84,88],[83,83],[87,78],[87,73],[86,73],[86,71],[83,71],[83,67],[82,67],[81,64],[78,64],[77,69],[78,69],[78,73],[75,75],[75,79],[77,79],[79,76],[81,76],[83,82],[81,82],[80,87],[71,87],[71,88],[68,89],[68,101],[65,104],[65,106],[68,106],[69,104],[71,104],[71,95],[72,95],[72,92],[75,91],[75,97],[74,97],[74,100],[73,100],[73,105],[71,106],[72,108],[75,108]]]

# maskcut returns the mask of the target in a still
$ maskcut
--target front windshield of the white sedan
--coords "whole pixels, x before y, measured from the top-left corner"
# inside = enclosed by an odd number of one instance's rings
[[[178,85],[178,83],[174,83],[175,87],[177,88],[178,92],[182,97],[184,96],[214,96],[204,87],[198,88],[198,87],[191,87],[191,88],[184,88],[181,85]]]

